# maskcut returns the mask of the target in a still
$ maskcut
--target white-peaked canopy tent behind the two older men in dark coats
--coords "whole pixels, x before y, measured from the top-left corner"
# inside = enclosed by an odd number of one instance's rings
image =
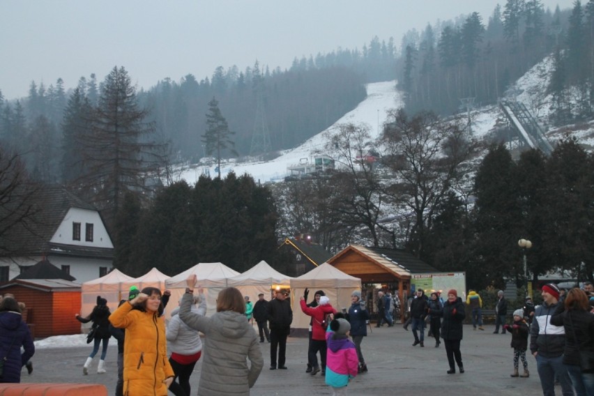
[[[290,287],[290,276],[283,275],[262,260],[245,273],[229,278],[227,286],[236,287],[243,296],[249,296],[255,303],[258,294],[264,293],[266,300],[271,299],[271,289],[279,286]]]

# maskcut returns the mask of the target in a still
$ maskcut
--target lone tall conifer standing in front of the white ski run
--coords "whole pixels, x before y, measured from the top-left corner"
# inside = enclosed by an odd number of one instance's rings
[[[233,155],[237,155],[235,144],[231,136],[235,132],[229,130],[227,120],[224,119],[219,109],[219,102],[214,97],[208,102],[208,113],[206,113],[206,132],[202,135],[202,142],[206,145],[206,153],[212,155],[215,153],[217,158],[217,169],[219,178],[221,177],[221,158],[225,150]]]

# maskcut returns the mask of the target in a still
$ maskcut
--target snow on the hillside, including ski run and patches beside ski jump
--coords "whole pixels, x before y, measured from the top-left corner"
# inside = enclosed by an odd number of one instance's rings
[[[535,65],[515,84],[515,96],[545,125],[549,115],[551,98],[546,96],[545,91],[549,83],[551,73],[551,58],[546,58]],[[313,153],[319,150],[326,143],[325,132],[334,130],[337,125],[345,123],[365,123],[369,127],[373,138],[379,137],[379,132],[386,121],[386,114],[389,109],[402,106],[402,96],[396,89],[396,82],[377,82],[367,84],[367,97],[363,102],[348,112],[341,119],[337,120],[330,128],[319,132],[319,134],[308,139],[296,148],[283,151],[282,155],[271,161],[262,162],[226,162],[221,165],[221,176],[224,177],[233,171],[237,176],[250,174],[255,181],[267,183],[271,181],[282,181],[289,175],[287,167],[300,162],[312,163]],[[490,105],[474,109],[471,112],[473,135],[477,139],[490,139],[491,132],[496,125],[501,125],[505,117],[501,114],[498,106]],[[563,128],[554,128],[547,132],[552,144],[560,139],[567,130],[579,139],[581,144],[594,147],[594,125],[567,125]],[[176,178],[183,179],[193,185],[201,174],[215,176],[216,165],[189,165],[176,169]]]

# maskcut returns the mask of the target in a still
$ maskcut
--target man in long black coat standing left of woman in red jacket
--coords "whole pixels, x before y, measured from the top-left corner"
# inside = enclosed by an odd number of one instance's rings
[[[287,370],[284,365],[287,351],[287,336],[293,323],[293,310],[287,301],[287,291],[279,289],[275,298],[268,303],[268,323],[271,326],[271,370],[276,370],[277,362],[280,370]],[[278,349],[278,360],[277,360]]]

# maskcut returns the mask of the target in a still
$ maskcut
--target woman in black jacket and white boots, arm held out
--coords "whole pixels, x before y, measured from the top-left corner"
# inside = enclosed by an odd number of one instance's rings
[[[97,296],[97,305],[95,305],[91,314],[89,314],[88,317],[81,317],[79,314],[75,314],[75,318],[81,323],[93,322],[91,331],[95,332],[93,334],[93,351],[91,351],[91,354],[86,358],[86,362],[84,362],[84,365],[82,366],[82,374],[89,374],[89,367],[91,367],[93,358],[99,351],[99,344],[101,342],[103,348],[101,349],[97,372],[98,374],[104,374],[106,372],[105,356],[107,356],[109,338],[112,337],[112,334],[109,333],[109,307],[107,307],[107,300],[101,296]]]

